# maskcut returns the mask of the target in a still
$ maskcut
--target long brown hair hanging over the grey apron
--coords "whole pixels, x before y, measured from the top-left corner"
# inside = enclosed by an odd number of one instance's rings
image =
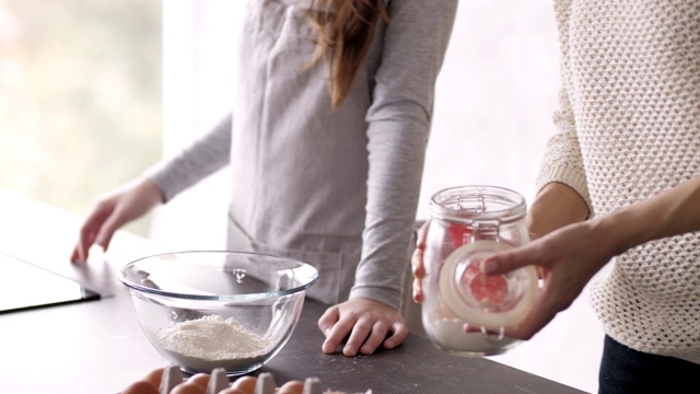
[[[336,109],[350,91],[380,18],[388,23],[385,0],[314,0],[308,23],[318,33],[310,68],[328,56],[330,100]]]

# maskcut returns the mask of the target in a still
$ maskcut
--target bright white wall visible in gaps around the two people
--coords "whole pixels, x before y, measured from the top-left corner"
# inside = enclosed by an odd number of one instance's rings
[[[229,109],[235,25],[243,3],[164,2],[166,154]],[[419,218],[428,216],[433,193],[456,185],[510,187],[532,202],[545,141],[553,132],[558,83],[551,1],[459,2],[436,86]],[[224,170],[178,196],[156,212],[152,237],[178,248],[223,247],[229,187]],[[541,335],[494,359],[596,392],[600,339],[581,297]]]

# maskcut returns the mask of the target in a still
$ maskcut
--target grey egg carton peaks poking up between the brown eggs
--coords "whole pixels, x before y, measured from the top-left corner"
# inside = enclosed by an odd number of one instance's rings
[[[185,380],[183,371],[177,366],[168,366],[163,370],[159,394],[170,394],[175,386]],[[211,371],[209,384],[207,385],[207,394],[217,394],[230,386],[228,371],[224,368],[217,368]],[[261,372],[258,374],[255,383],[255,394],[275,394],[277,383],[275,376],[270,372]],[[346,394],[342,392],[323,391],[320,380],[318,378],[306,378],[302,394]],[[372,390],[361,394],[372,394]]]

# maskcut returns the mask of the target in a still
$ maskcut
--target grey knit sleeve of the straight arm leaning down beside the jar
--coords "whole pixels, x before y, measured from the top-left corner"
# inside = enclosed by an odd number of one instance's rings
[[[400,305],[420,194],[435,80],[447,48],[456,0],[425,5],[389,1],[381,66],[366,115],[369,179],[362,256],[350,298]]]

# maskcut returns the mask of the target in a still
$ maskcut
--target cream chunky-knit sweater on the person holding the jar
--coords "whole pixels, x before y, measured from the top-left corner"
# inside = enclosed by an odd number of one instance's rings
[[[563,89],[538,187],[568,184],[599,216],[700,175],[700,1],[555,3]],[[612,264],[592,289],[605,332],[700,363],[700,233]]]

